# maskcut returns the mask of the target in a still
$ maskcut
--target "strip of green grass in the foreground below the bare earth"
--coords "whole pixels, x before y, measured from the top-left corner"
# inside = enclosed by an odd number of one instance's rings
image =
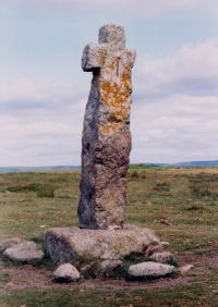
[[[85,293],[84,293],[85,292]],[[197,302],[197,305],[195,303]],[[207,302],[205,290],[198,283],[190,286],[180,286],[177,292],[171,290],[134,290],[134,291],[109,291],[109,290],[26,290],[14,292],[0,298],[1,306],[31,306],[31,307],[95,307],[95,306],[216,306],[215,300]]]

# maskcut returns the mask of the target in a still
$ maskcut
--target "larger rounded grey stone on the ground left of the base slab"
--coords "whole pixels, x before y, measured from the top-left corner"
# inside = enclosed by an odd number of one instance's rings
[[[43,259],[44,253],[34,242],[24,242],[4,250],[3,257],[11,261],[33,263]]]

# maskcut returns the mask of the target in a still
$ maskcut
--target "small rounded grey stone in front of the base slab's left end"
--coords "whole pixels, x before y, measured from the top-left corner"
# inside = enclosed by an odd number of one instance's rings
[[[57,282],[76,282],[80,280],[81,274],[71,263],[64,263],[53,272],[53,278]]]

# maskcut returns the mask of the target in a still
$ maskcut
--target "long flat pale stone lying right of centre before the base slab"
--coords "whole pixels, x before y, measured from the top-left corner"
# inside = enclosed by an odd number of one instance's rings
[[[161,278],[174,272],[174,267],[153,261],[131,266],[128,271],[129,279]]]

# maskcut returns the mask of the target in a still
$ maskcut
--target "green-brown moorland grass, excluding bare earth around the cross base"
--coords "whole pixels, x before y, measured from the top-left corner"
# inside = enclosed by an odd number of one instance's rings
[[[77,170],[0,174],[0,238],[23,236],[40,244],[48,228],[76,225],[78,182]],[[218,169],[130,169],[126,222],[154,229],[171,251],[196,254],[215,244],[217,220]],[[39,267],[52,269],[47,258]],[[26,290],[2,296],[0,306],[218,306],[217,277],[213,271],[192,285],[149,292]],[[1,273],[0,284],[7,279]]]

